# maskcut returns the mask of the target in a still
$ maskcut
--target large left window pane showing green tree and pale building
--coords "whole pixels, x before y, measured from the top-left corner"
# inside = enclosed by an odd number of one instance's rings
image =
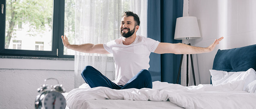
[[[5,49],[51,51],[52,15],[52,0],[6,0]]]

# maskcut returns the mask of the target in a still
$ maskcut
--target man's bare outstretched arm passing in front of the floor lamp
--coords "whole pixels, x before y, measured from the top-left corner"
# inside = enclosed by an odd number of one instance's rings
[[[209,47],[194,47],[187,44],[177,43],[159,43],[154,53],[163,54],[163,53],[174,53],[174,54],[198,54],[198,53],[208,53],[214,50],[215,46],[219,44],[223,37],[218,40],[215,39],[213,44]]]

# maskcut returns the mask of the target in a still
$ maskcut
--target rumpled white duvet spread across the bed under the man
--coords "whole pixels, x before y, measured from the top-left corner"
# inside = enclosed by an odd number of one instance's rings
[[[92,99],[125,99],[140,101],[166,101],[187,109],[253,109],[256,108],[256,93],[242,91],[244,81],[218,86],[198,85],[184,87],[166,82],[153,82],[153,88],[113,90],[108,87],[77,88],[66,96],[70,109],[81,109],[83,102]]]

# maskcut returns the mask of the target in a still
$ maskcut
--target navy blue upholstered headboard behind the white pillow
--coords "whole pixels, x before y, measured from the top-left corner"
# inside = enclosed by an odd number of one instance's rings
[[[213,70],[238,72],[249,68],[256,70],[256,44],[218,50],[213,61]]]

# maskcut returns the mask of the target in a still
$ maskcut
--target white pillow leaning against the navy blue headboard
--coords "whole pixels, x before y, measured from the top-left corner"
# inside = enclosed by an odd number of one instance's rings
[[[227,82],[243,80],[245,81],[243,91],[246,91],[246,86],[252,81],[256,80],[256,72],[253,68],[248,69],[247,71],[240,72],[226,72],[219,70],[210,70],[212,76],[213,86],[225,84]]]

